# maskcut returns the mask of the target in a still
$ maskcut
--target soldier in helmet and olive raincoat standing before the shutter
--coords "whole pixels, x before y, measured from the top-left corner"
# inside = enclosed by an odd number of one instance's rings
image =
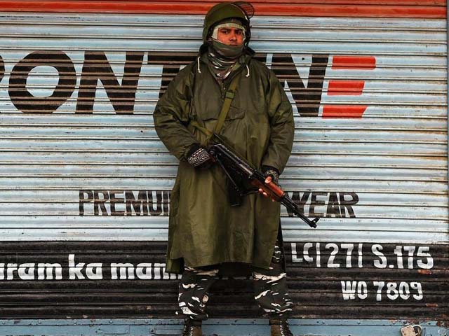
[[[167,272],[182,274],[182,335],[200,336],[208,290],[222,269],[250,265],[255,300],[271,335],[292,335],[280,228],[280,204],[248,195],[232,207],[232,189],[206,146],[215,130],[235,151],[278,181],[293,146],[292,107],[274,73],[253,59],[253,6],[219,3],[208,11],[195,62],[170,82],[154,111],[156,132],[180,160],[170,200]],[[225,122],[217,127],[220,115]],[[235,204],[234,204],[235,205]]]

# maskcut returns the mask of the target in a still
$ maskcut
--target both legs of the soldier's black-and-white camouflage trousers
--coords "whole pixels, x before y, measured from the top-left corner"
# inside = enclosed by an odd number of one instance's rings
[[[185,267],[179,284],[180,311],[193,321],[208,318],[206,304],[208,290],[215,282],[218,269],[213,267]],[[254,297],[269,318],[287,318],[293,308],[288,297],[287,274],[283,270],[283,253],[276,241],[269,269],[253,268]]]

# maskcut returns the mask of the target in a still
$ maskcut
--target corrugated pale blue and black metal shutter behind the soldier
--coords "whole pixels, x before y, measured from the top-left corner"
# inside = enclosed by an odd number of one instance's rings
[[[311,230],[283,212],[296,317],[447,319],[444,4],[384,4],[369,15],[382,18],[339,18],[349,8],[252,20],[251,46],[295,109],[281,185],[321,217]],[[1,316],[173,316],[163,253],[177,162],[152,111],[194,59],[201,25],[201,15],[1,13]],[[213,316],[257,314],[248,280],[219,281],[214,297]]]

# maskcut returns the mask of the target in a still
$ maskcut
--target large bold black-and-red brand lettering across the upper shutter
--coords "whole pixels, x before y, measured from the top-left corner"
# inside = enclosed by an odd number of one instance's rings
[[[145,52],[126,51],[123,64],[123,77],[119,78],[112,69],[111,62],[105,51],[86,50],[84,52],[83,66],[79,90],[76,92],[75,113],[93,113],[95,94],[99,83],[105,89],[109,102],[117,114],[131,114],[135,109],[135,98],[138,90],[140,73],[144,66]],[[147,52],[147,64],[161,66],[161,86],[159,98],[166,91],[168,83],[187,64],[196,59],[195,52]],[[308,75],[298,70],[297,57],[302,62],[309,63]],[[310,57],[310,61],[305,60]],[[288,87],[292,94],[295,106],[300,116],[319,116],[323,83],[328,69],[329,55],[301,56],[294,54],[257,54],[255,59],[265,62],[269,59],[276,76],[281,83]],[[308,58],[307,58],[308,59]],[[304,61],[305,60],[305,61]],[[333,56],[330,69],[375,69],[375,57],[363,56]],[[145,64],[145,65],[147,65]],[[355,65],[354,65],[355,64]],[[34,97],[27,90],[27,78],[31,71],[38,66],[51,66],[58,70],[58,85],[53,94],[48,97]],[[302,65],[303,66],[303,65]],[[0,57],[0,80],[4,77],[4,60]],[[307,76],[307,78],[305,77]],[[354,95],[362,94],[364,80],[329,80],[328,95]],[[11,71],[8,92],[11,101],[19,111],[25,113],[53,113],[67,99],[72,97],[76,87],[76,71],[72,60],[65,52],[58,50],[35,51],[15,64]],[[325,105],[323,118],[359,118],[367,106],[361,105]],[[337,217],[338,208],[332,207],[328,214]]]

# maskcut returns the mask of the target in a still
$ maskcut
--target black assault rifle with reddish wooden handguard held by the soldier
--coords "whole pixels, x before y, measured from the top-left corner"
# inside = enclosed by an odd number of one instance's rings
[[[302,221],[309,224],[311,228],[316,228],[316,222],[319,221],[319,218],[309,220],[309,218],[301,214],[297,209],[297,204],[276,183],[265,183],[266,176],[250,165],[245,158],[236,153],[217,134],[214,134],[213,144],[208,147],[208,152],[213,160],[225,171],[239,197],[258,193],[261,188],[272,200],[283,204],[290,212],[293,212]]]

